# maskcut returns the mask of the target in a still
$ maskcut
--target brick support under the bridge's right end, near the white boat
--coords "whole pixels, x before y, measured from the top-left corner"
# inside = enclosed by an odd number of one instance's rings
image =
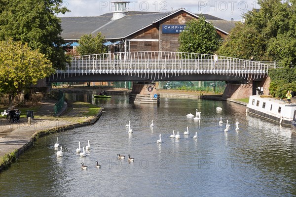
[[[245,99],[257,94],[257,88],[263,90],[263,95],[269,95],[270,78],[265,77],[262,81],[251,80],[247,84],[240,82],[228,82],[223,93],[223,99]]]

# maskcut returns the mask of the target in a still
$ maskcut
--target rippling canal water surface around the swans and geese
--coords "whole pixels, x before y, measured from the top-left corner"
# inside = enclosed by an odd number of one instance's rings
[[[290,128],[247,115],[245,106],[201,99],[161,98],[159,105],[148,105],[129,103],[127,96],[68,98],[92,102],[106,113],[94,125],[39,138],[0,174],[0,196],[296,196],[296,136]],[[195,109],[200,120],[186,117]],[[181,139],[170,138],[173,130]],[[61,158],[54,148],[57,137]],[[91,149],[81,158],[78,141],[82,147],[88,140]],[[129,154],[134,162],[127,161]]]

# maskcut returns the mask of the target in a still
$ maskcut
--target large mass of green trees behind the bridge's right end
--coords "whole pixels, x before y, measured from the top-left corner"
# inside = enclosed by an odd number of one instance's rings
[[[259,0],[260,9],[244,15],[218,53],[235,58],[296,64],[296,0]],[[236,48],[235,50],[233,48]],[[239,51],[239,52],[238,52]]]

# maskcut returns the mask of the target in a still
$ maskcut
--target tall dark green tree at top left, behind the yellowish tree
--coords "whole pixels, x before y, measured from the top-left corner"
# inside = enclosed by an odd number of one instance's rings
[[[58,13],[69,11],[63,0],[0,0],[0,40],[12,38],[28,43],[45,54],[54,68],[64,68],[66,57],[61,44]]]

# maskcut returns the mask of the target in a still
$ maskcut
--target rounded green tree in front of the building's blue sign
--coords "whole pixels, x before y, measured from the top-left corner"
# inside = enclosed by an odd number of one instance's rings
[[[186,30],[179,35],[180,52],[214,54],[221,44],[221,36],[203,16],[186,22]]]

